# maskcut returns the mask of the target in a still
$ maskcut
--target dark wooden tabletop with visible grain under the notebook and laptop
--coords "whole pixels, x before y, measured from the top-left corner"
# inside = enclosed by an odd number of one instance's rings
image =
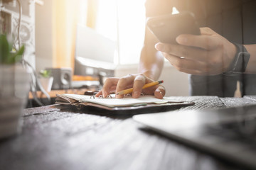
[[[205,109],[256,103],[255,96],[173,97]],[[146,130],[132,117],[51,105],[23,111],[20,135],[0,141],[0,169],[243,169]]]

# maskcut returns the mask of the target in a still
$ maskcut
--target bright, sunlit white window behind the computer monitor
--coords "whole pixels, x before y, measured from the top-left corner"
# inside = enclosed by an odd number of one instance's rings
[[[85,4],[85,1],[81,0],[81,3]],[[144,41],[144,0],[97,0],[96,10],[95,30],[117,41],[119,55],[116,63],[138,63]]]

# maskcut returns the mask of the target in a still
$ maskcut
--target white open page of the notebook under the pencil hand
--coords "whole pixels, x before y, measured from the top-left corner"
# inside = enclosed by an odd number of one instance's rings
[[[155,98],[154,96],[140,96],[139,98],[125,97],[125,98],[91,98],[91,96],[79,95],[79,94],[62,94],[62,96],[73,98],[79,102],[97,103],[107,107],[119,107],[119,106],[138,106],[146,105],[149,103],[169,103],[173,102],[170,99]]]

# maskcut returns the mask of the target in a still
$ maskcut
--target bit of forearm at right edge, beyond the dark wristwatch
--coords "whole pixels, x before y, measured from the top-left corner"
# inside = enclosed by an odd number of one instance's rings
[[[245,45],[245,48],[250,53],[250,60],[247,64],[245,73],[256,73],[256,44]]]

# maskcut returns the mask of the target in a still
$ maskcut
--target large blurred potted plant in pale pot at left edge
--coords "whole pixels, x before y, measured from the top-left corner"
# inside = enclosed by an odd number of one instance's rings
[[[24,46],[14,50],[6,35],[0,35],[0,138],[21,130],[21,111],[30,87],[30,75],[20,62],[24,50]]]

